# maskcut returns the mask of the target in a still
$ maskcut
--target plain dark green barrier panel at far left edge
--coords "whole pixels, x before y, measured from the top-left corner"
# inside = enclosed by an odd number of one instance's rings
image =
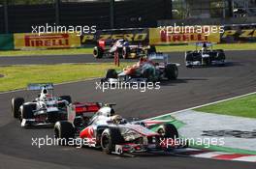
[[[0,35],[0,50],[13,50],[14,47],[14,35],[13,34],[1,34]]]

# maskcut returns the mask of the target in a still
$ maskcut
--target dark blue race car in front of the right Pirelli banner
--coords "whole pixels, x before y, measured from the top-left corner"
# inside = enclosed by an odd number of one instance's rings
[[[198,46],[202,49],[198,50]],[[208,47],[211,46],[211,49]],[[224,66],[225,53],[222,49],[212,49],[212,43],[197,42],[195,51],[185,52],[185,64],[187,68],[194,66]]]

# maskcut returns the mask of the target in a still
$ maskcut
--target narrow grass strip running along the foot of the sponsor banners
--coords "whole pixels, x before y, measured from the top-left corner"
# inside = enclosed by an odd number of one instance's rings
[[[224,50],[256,50],[256,43],[232,43],[232,44],[215,44],[213,48],[222,48]],[[195,50],[194,44],[189,45],[158,45],[157,51],[175,52],[186,50]],[[90,48],[70,48],[70,49],[48,49],[48,50],[9,50],[0,51],[1,56],[41,56],[41,55],[78,55],[92,54]]]

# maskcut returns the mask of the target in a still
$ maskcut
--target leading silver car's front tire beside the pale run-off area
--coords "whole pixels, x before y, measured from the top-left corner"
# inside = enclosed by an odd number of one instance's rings
[[[178,138],[178,132],[176,127],[173,124],[165,124],[163,127],[160,127],[157,132],[164,136],[164,138]]]

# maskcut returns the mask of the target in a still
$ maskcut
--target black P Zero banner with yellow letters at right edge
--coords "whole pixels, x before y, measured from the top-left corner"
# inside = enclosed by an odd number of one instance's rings
[[[226,25],[221,35],[221,42],[256,42],[256,24]]]

